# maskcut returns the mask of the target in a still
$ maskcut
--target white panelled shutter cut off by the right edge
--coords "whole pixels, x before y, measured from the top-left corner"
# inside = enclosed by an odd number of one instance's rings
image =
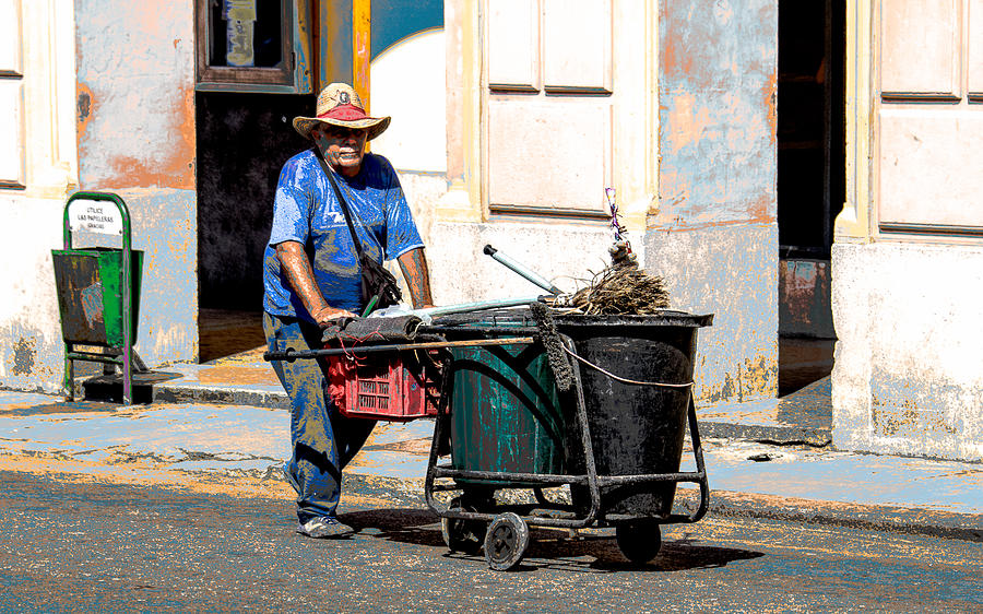
[[[879,0],[881,234],[983,235],[983,0]]]

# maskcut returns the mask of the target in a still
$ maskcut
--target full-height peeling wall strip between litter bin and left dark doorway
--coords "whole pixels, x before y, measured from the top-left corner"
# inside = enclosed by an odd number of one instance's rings
[[[119,193],[146,252],[137,351],[198,354],[194,3],[78,0],[82,189]]]

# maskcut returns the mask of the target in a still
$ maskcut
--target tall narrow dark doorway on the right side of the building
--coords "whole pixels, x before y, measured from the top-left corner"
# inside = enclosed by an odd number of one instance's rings
[[[833,222],[845,196],[845,0],[779,0],[779,394],[829,375]]]

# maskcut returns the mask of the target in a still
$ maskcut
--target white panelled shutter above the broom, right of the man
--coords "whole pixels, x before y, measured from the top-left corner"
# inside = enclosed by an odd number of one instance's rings
[[[612,0],[488,0],[484,8],[490,211],[603,216],[612,184]]]

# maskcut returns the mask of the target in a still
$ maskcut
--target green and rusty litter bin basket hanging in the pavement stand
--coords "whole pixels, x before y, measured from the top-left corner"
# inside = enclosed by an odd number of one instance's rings
[[[137,342],[143,251],[131,251],[131,340]],[[69,343],[123,344],[122,250],[52,249],[61,334]]]

